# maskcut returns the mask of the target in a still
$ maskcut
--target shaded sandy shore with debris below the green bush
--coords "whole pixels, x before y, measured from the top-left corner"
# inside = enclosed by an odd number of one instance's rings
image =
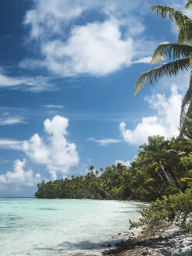
[[[144,256],[191,255],[192,236],[184,235],[182,230],[171,223],[163,222],[162,226],[153,230],[140,231],[136,236],[116,244],[116,249],[109,249],[105,255]]]

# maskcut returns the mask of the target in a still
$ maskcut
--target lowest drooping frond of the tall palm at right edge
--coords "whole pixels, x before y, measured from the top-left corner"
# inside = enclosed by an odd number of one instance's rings
[[[154,80],[157,81],[158,77],[165,75],[176,76],[180,70],[187,70],[189,68],[190,58],[186,58],[163,64],[162,66],[158,66],[157,68],[149,70],[148,72],[142,73],[137,80],[134,95],[136,96],[138,91],[140,91],[141,87],[144,87],[145,84],[153,84]]]

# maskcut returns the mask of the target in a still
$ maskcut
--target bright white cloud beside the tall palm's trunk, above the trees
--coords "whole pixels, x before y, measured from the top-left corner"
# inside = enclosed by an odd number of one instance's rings
[[[153,94],[146,98],[151,108],[157,111],[157,115],[144,117],[134,130],[126,130],[126,123],[119,124],[119,130],[123,139],[129,144],[143,144],[148,136],[162,135],[172,137],[179,134],[181,94],[176,85],[172,85],[172,94],[165,98],[164,94]]]

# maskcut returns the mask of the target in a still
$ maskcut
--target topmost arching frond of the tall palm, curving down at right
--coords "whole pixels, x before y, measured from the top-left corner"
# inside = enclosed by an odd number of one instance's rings
[[[154,5],[151,6],[152,12],[162,16],[162,19],[166,19],[167,16],[176,22],[176,27],[179,30],[178,43],[191,43],[192,39],[192,20],[187,17],[183,12],[173,9],[170,6],[165,5]]]

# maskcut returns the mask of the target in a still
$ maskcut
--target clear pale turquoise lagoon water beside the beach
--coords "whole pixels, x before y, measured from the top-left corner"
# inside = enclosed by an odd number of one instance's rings
[[[0,199],[0,254],[100,255],[101,244],[125,236],[141,208],[119,201]]]

